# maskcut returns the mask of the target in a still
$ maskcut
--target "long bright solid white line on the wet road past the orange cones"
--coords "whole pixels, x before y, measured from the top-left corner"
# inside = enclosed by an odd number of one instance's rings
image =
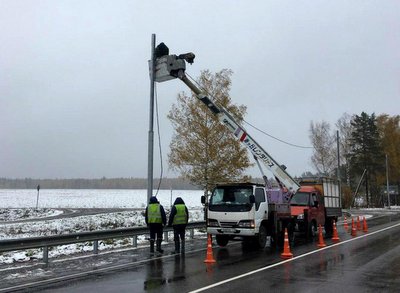
[[[277,267],[277,266],[280,266],[280,265],[283,265],[283,264],[285,264],[285,263],[288,263],[288,262],[291,262],[291,261],[295,261],[295,260],[297,260],[297,259],[306,257],[306,256],[308,256],[308,255],[311,255],[311,254],[314,254],[314,253],[318,253],[318,252],[320,252],[320,251],[322,251],[322,250],[330,249],[330,248],[332,248],[332,247],[336,247],[336,246],[339,246],[339,245],[342,245],[342,244],[345,244],[345,243],[348,243],[348,242],[351,242],[351,241],[355,241],[355,240],[358,240],[358,239],[361,239],[361,238],[369,237],[369,236],[371,236],[371,235],[374,235],[374,234],[377,234],[377,233],[380,233],[380,232],[383,232],[383,231],[386,231],[386,230],[389,230],[389,229],[393,229],[393,228],[398,227],[398,226],[400,226],[400,223],[395,224],[395,225],[393,225],[393,226],[389,226],[389,227],[380,229],[380,230],[377,230],[377,231],[374,231],[374,232],[369,232],[368,234],[364,234],[364,235],[361,235],[361,236],[357,236],[357,237],[355,237],[355,238],[351,238],[351,239],[348,239],[348,240],[344,240],[344,241],[342,241],[342,242],[334,243],[334,244],[332,244],[332,245],[325,246],[325,247],[323,247],[323,248],[319,248],[319,249],[316,249],[316,250],[307,252],[307,253],[305,253],[305,254],[298,255],[298,256],[295,256],[295,257],[293,257],[293,258],[290,258],[290,259],[287,259],[287,260],[283,260],[283,261],[280,261],[280,262],[278,262],[278,263],[275,263],[275,264],[272,264],[272,265],[269,265],[269,266],[266,266],[266,267],[263,267],[263,268],[259,268],[259,269],[254,270],[254,271],[250,271],[250,272],[244,273],[244,274],[242,274],[242,275],[239,275],[239,276],[236,276],[236,277],[232,277],[232,278],[229,278],[229,279],[226,279],[226,280],[223,280],[223,281],[220,281],[220,282],[211,284],[211,285],[209,285],[209,286],[206,286],[206,287],[203,287],[203,288],[199,288],[199,289],[190,291],[189,293],[197,293],[197,292],[202,292],[202,291],[205,291],[205,290],[208,290],[208,289],[212,289],[212,288],[218,287],[218,286],[220,286],[220,285],[223,285],[223,284],[226,284],[226,283],[229,283],[229,282],[232,282],[232,281],[235,281],[235,280],[238,280],[238,279],[241,279],[241,278],[250,276],[250,275],[254,275],[254,274],[257,274],[257,273],[259,273],[259,272],[262,272],[262,271],[265,271],[265,270],[268,270],[268,269],[271,269],[271,268],[274,268],[274,267]]]

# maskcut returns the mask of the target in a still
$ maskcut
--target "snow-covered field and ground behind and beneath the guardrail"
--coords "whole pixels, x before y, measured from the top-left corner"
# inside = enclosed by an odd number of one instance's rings
[[[203,220],[199,190],[160,190],[157,198],[168,214],[171,204],[180,196],[189,209],[189,221]],[[36,204],[38,209],[36,210]],[[143,211],[147,205],[146,190],[45,190],[27,189],[0,190],[0,240],[44,235],[106,230],[119,227],[143,226]],[[62,219],[45,219],[63,213],[62,209],[79,208],[127,208],[135,209],[90,216]],[[29,222],[15,222],[27,220]],[[14,221],[14,222],[12,222]],[[120,248],[129,245],[127,239],[100,242],[99,249]],[[138,239],[139,245],[147,245],[145,236]],[[58,246],[49,251],[50,257],[90,251],[87,244]],[[10,252],[0,255],[1,263],[13,263],[41,258],[37,249]]]

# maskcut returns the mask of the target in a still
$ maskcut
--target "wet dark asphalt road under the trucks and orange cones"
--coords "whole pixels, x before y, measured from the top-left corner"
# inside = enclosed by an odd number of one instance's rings
[[[297,243],[294,258],[280,251],[253,251],[233,243],[214,246],[216,264],[205,265],[205,251],[167,255],[129,269],[55,284],[40,292],[399,292],[398,214],[368,221],[368,233],[353,238],[338,225],[341,242]]]

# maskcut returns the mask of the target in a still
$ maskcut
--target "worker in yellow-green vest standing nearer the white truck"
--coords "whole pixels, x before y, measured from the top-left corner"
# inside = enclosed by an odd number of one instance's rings
[[[173,253],[185,253],[185,230],[189,220],[189,212],[181,197],[175,199],[169,215],[168,226],[174,228],[175,250]]]

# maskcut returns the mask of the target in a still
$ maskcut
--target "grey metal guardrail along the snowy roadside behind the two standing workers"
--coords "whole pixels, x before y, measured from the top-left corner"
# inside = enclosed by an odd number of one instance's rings
[[[188,223],[186,229],[190,231],[190,238],[194,238],[194,229],[205,228],[205,221]],[[164,228],[164,240],[168,242],[168,233],[172,227]],[[0,253],[7,251],[43,248],[43,261],[49,261],[49,247],[93,241],[93,253],[99,253],[99,240],[114,238],[131,238],[134,247],[137,247],[137,237],[149,234],[148,227],[118,228],[113,230],[78,232],[64,235],[51,235],[42,237],[29,237],[20,239],[0,240]]]

